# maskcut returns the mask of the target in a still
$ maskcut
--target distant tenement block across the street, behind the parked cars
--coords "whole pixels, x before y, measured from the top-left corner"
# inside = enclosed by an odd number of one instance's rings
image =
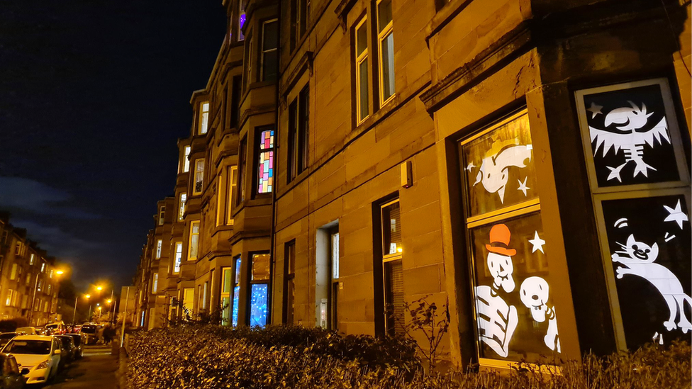
[[[56,260],[47,256],[26,230],[0,217],[0,319],[21,317],[29,325],[43,326],[57,320],[60,276]]]

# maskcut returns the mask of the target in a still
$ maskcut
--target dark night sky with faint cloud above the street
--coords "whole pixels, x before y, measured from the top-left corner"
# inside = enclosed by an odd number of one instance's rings
[[[224,33],[221,0],[2,1],[0,210],[79,288],[131,283]]]

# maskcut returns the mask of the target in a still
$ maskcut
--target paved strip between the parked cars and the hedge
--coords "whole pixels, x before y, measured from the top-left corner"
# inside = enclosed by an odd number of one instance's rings
[[[84,358],[57,375],[48,389],[117,389],[118,357],[110,346],[86,346]]]

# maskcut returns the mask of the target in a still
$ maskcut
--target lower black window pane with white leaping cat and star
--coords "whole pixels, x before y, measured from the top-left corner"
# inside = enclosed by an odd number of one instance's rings
[[[689,195],[603,201],[613,281],[629,348],[692,339],[689,203]]]

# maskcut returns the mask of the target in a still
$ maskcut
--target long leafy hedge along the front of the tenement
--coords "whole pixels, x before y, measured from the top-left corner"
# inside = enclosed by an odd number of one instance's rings
[[[386,350],[387,344],[398,351]],[[409,359],[410,346],[301,327],[158,329],[130,339],[128,383],[130,389],[692,388],[692,346],[686,343],[605,358],[588,354],[565,362],[555,376],[529,365],[503,375],[426,375]]]

